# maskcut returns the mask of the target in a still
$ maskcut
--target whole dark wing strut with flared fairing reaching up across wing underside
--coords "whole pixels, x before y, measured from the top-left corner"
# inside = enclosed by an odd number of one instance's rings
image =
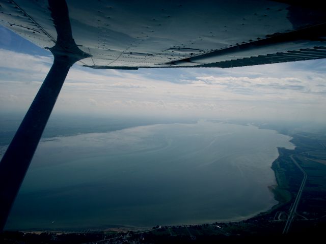
[[[66,1],[49,0],[48,4],[57,31],[56,45],[49,48],[55,59],[0,162],[0,232],[5,227],[70,67],[77,60],[90,56],[81,51],[72,38]]]

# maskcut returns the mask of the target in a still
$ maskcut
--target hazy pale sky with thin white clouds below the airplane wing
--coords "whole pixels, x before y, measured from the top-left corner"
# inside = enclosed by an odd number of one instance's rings
[[[0,112],[26,111],[50,52],[0,27]],[[95,70],[74,65],[55,112],[326,121],[326,60],[232,69]]]

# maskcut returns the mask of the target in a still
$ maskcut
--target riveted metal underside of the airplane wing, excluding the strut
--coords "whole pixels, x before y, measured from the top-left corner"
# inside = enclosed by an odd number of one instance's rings
[[[90,54],[78,64],[91,68],[230,68],[326,57],[326,11],[307,1],[66,2],[73,39]],[[42,48],[55,46],[47,1],[0,4],[2,25]]]

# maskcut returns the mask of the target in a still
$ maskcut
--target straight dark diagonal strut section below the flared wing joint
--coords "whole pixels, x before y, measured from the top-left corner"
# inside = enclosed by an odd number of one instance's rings
[[[54,60],[48,75],[0,163],[1,229],[3,229],[8,218],[10,208],[30,166],[70,66],[63,60]]]

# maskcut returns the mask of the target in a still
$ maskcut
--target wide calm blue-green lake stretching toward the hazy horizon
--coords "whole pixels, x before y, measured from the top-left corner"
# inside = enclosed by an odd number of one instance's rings
[[[291,138],[254,126],[164,124],[40,142],[7,229],[241,220],[277,204],[271,163]]]

